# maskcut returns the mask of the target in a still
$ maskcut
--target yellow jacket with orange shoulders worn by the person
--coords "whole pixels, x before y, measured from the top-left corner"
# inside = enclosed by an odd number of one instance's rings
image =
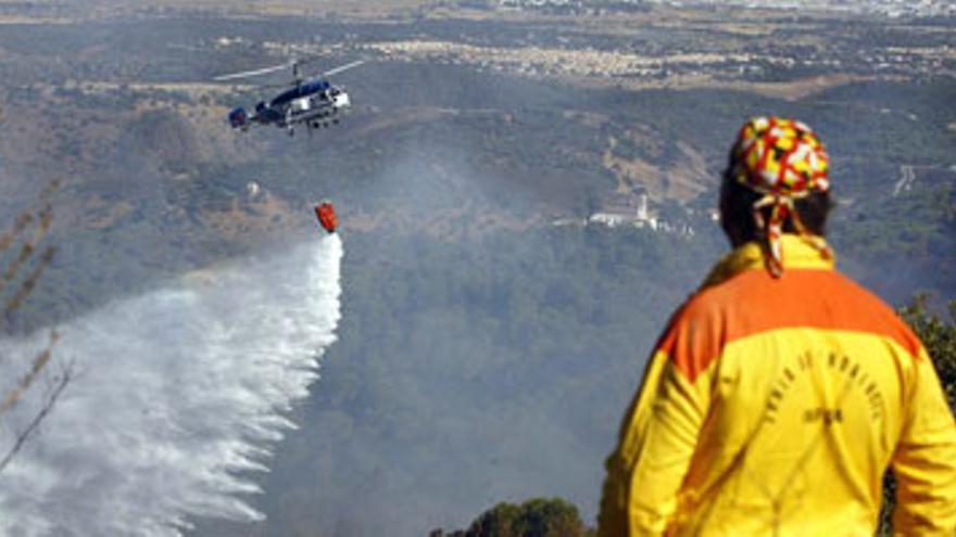
[[[675,314],[607,459],[599,535],[953,537],[956,425],[919,340],[794,235],[746,244]]]

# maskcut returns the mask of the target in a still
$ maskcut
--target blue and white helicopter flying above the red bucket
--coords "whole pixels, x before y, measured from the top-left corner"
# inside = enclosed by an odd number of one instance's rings
[[[275,125],[278,128],[285,128],[289,136],[295,133],[297,125],[304,125],[310,133],[312,129],[328,127],[329,124],[338,125],[338,114],[350,107],[352,102],[343,88],[329,84],[326,78],[357,67],[365,62],[358,60],[325,73],[302,77],[301,66],[305,63],[307,62],[293,60],[273,67],[231,73],[213,78],[216,81],[226,81],[292,69],[291,82],[259,87],[259,89],[285,88],[285,91],[269,101],[260,101],[252,112],[247,112],[242,106],[234,108],[228,115],[229,125],[243,132],[249,130],[252,125]]]

